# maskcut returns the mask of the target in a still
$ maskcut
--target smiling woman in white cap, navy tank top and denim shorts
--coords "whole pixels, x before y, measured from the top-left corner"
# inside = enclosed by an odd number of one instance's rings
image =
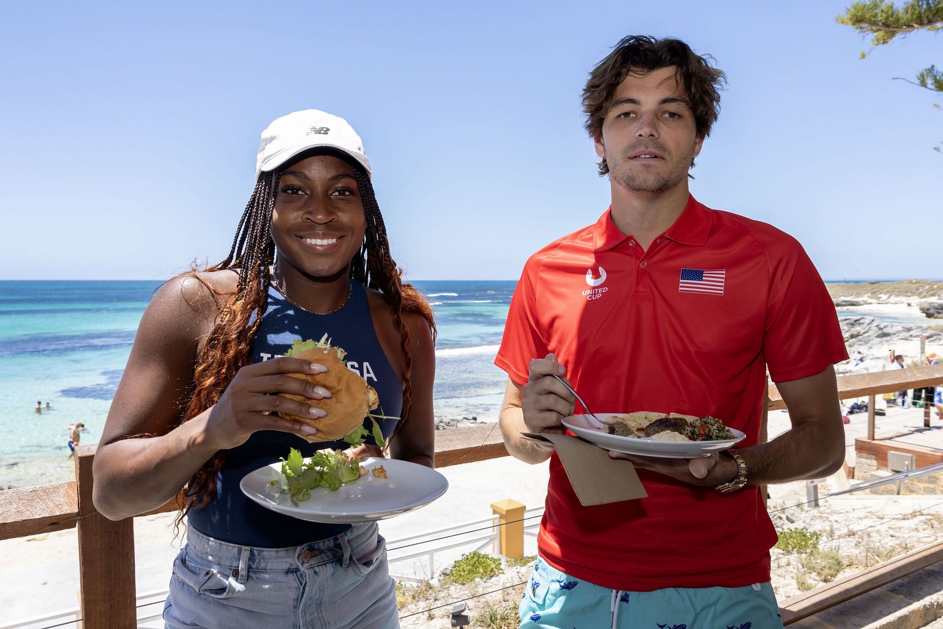
[[[317,422],[275,414],[326,415],[330,391],[285,375],[326,368],[283,356],[324,334],[376,389],[389,455],[432,466],[435,323],[400,281],[370,174],[344,120],[308,109],[274,121],[229,256],[164,284],[141,319],[95,455],[94,503],[121,520],[176,497],[187,545],[168,627],[399,626],[376,522],[301,521],[240,491],[292,447],[347,446],[308,443]],[[355,454],[382,452],[371,438]]]

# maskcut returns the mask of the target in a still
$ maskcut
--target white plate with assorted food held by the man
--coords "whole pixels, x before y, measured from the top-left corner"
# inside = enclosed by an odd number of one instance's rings
[[[661,458],[700,458],[734,447],[746,438],[713,417],[637,411],[596,413],[606,426],[588,415],[572,415],[563,425],[605,450]]]

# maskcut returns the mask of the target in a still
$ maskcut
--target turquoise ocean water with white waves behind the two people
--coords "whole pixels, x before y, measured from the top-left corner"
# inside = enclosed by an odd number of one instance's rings
[[[438,321],[437,415],[495,420],[506,376],[491,361],[515,282],[415,284]],[[64,461],[69,423],[88,426],[83,443],[98,440],[141,314],[158,285],[0,281],[0,488],[11,479],[23,483],[12,478],[12,466],[5,467],[11,461],[21,471],[26,459]],[[37,401],[52,409],[36,414]]]

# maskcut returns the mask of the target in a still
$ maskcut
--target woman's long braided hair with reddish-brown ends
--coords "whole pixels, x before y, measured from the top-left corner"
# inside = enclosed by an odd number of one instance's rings
[[[412,404],[412,355],[409,352],[409,331],[403,322],[404,312],[418,312],[436,335],[436,323],[432,308],[422,294],[409,284],[402,282],[402,270],[396,266],[389,253],[387,227],[376,203],[370,176],[356,163],[351,163],[363,202],[367,227],[363,243],[351,260],[350,276],[364,286],[379,290],[393,313],[393,324],[400,334],[400,347],[405,357],[403,410],[388,444],[399,434]],[[283,166],[283,169],[288,164]],[[240,218],[236,236],[229,255],[220,263],[208,267],[207,272],[231,270],[239,273],[235,294],[230,297],[217,316],[210,331],[203,353],[197,358],[193,372],[190,401],[183,413],[188,421],[210,406],[219,402],[223,391],[241,367],[252,362],[250,349],[262,317],[268,305],[269,287],[272,284],[270,268],[274,263],[275,243],[271,227],[275,197],[278,193],[280,174],[261,173],[256,181],[249,202]],[[188,274],[211,290],[216,297],[223,293],[211,287],[195,271]],[[177,493],[179,508],[175,524],[187,516],[192,507],[207,505],[216,491],[216,481],[223,468],[225,451],[213,455]]]

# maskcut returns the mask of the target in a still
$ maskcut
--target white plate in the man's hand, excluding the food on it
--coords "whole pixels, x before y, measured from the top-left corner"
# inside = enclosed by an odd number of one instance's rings
[[[607,420],[628,413],[596,413],[596,417]],[[729,428],[734,439],[717,441],[659,441],[651,437],[634,438],[609,435],[604,426],[594,422],[588,415],[572,415],[563,419],[563,425],[573,433],[605,450],[615,450],[627,455],[657,456],[661,458],[699,458],[709,456],[713,450],[726,450],[746,439],[739,430]]]

